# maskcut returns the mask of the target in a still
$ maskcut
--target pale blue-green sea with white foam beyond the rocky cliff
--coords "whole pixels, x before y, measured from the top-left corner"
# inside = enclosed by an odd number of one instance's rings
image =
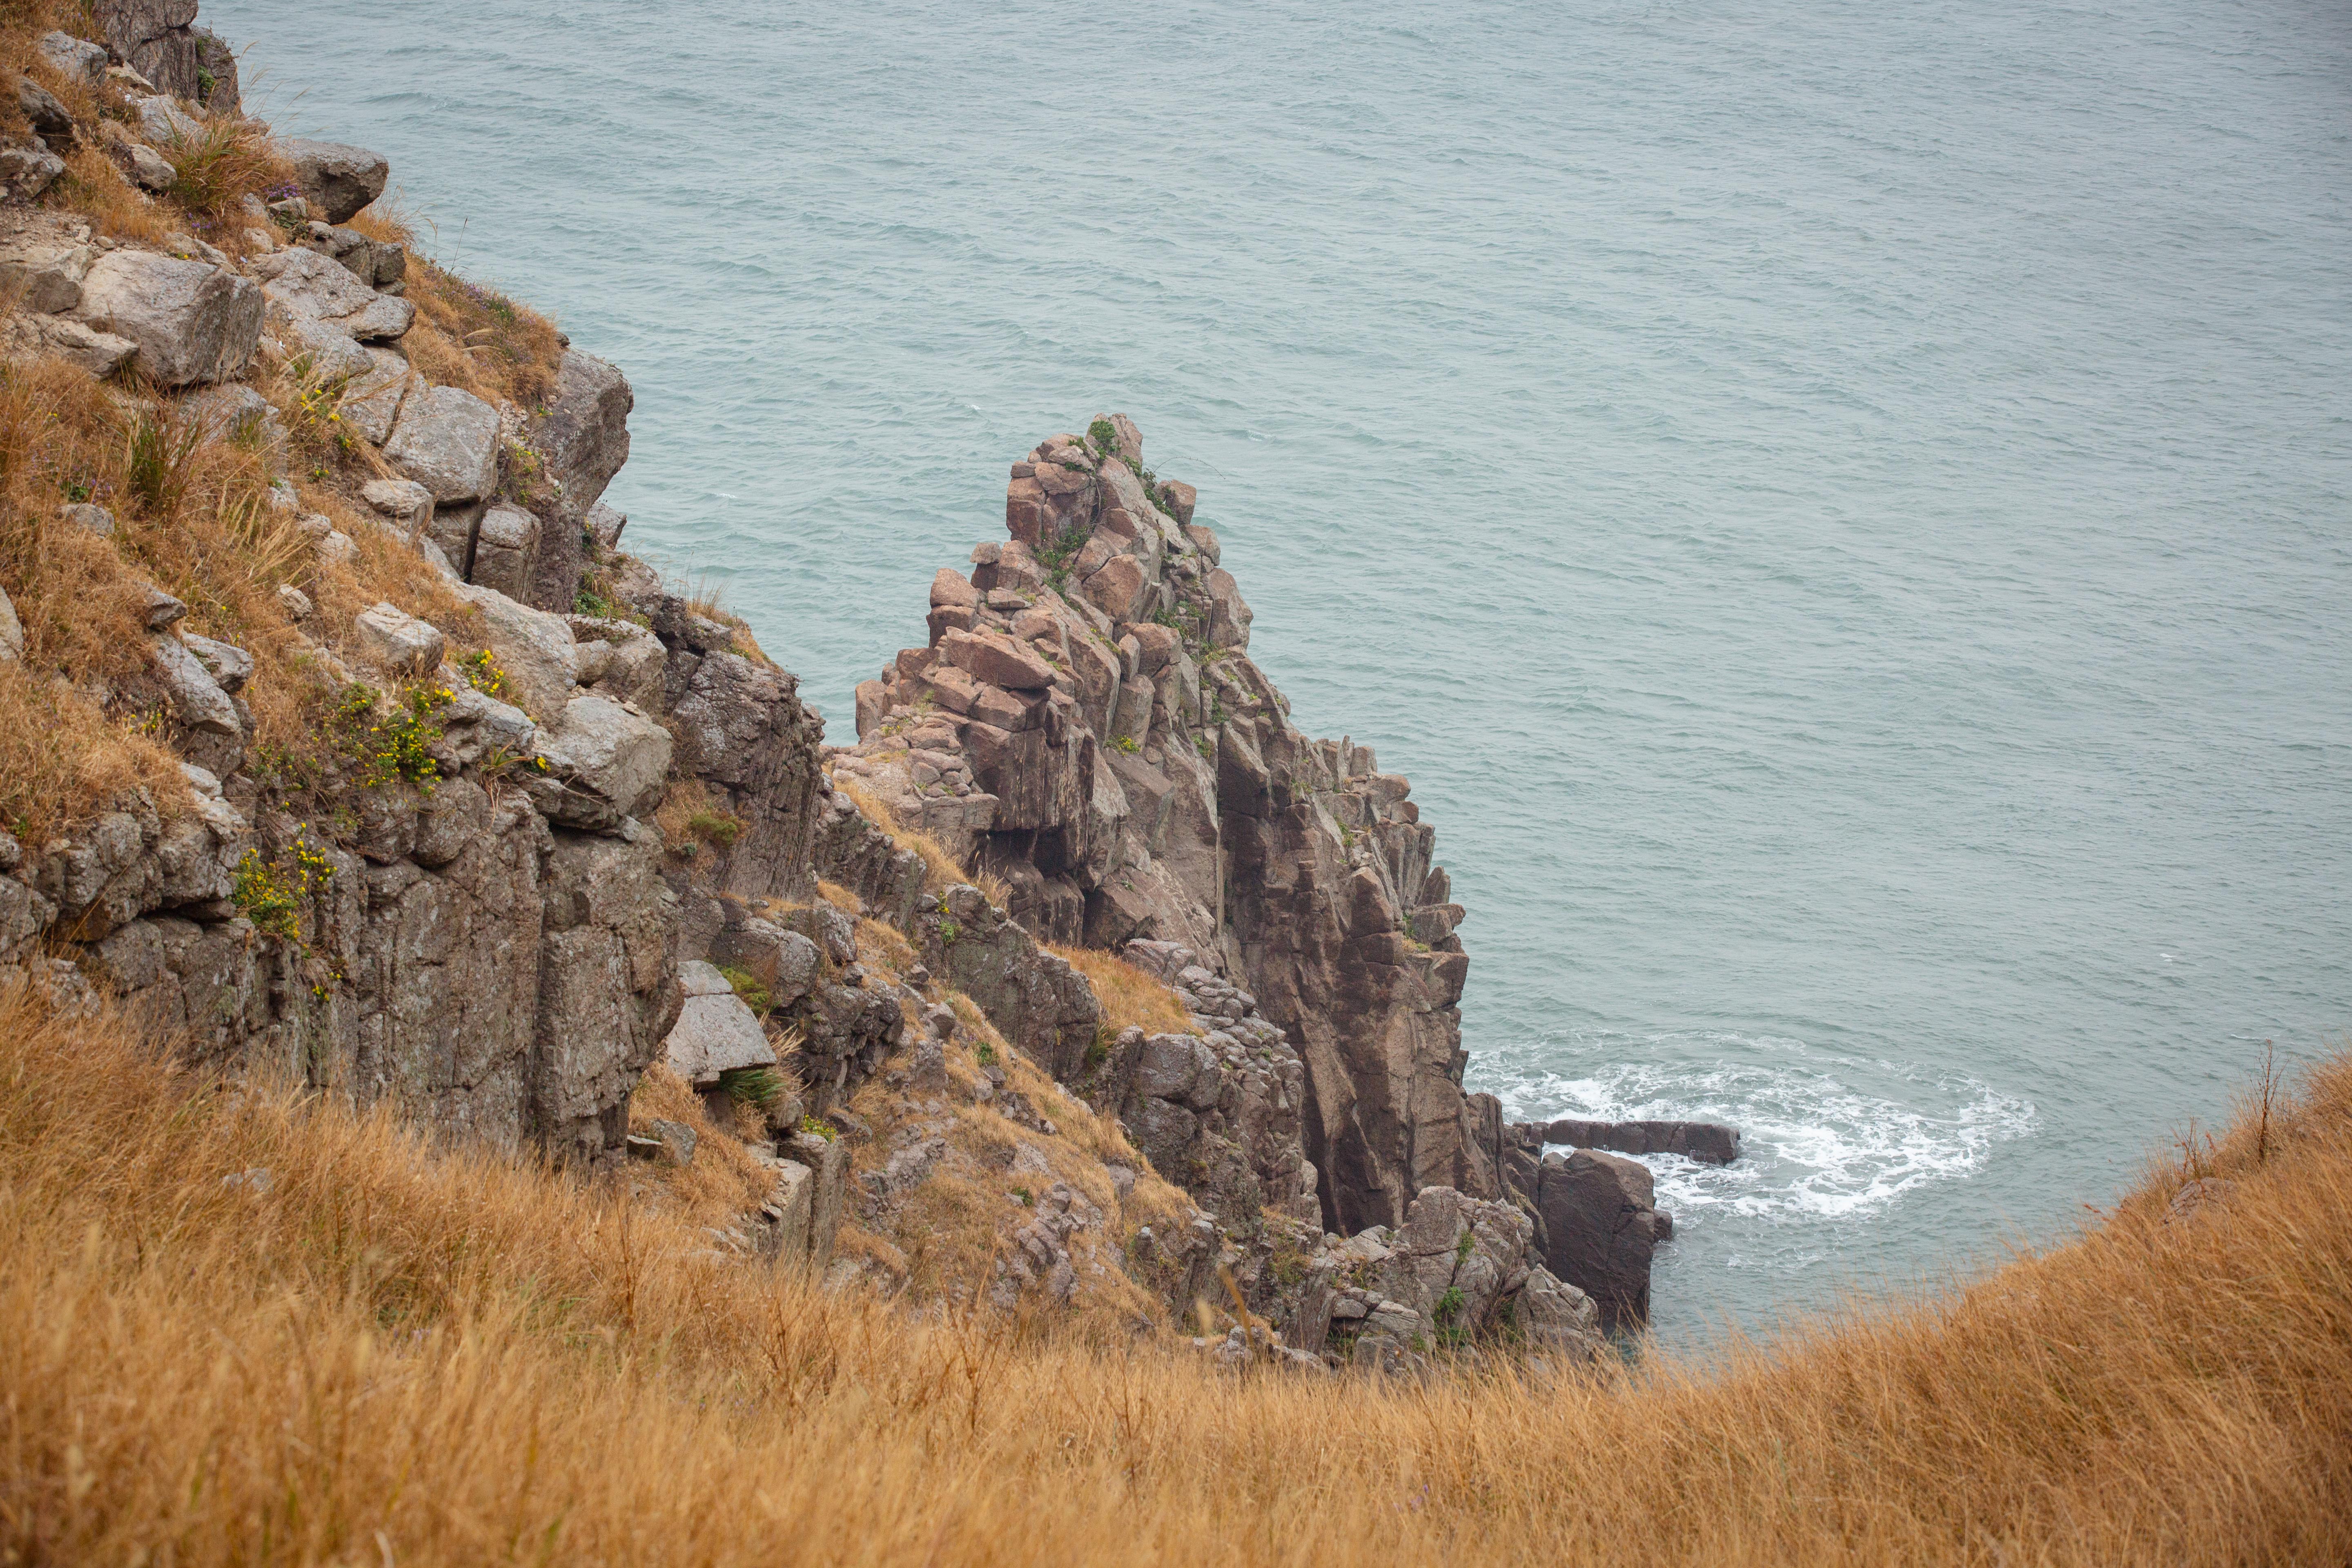
[[[630,545],[847,733],[1124,409],[1411,773],[1668,1345],[2065,1237],[2352,1025],[2331,0],[207,0],[637,388]]]

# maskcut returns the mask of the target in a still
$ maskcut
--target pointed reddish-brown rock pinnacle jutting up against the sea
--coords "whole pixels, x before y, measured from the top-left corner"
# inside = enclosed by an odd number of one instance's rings
[[[1367,748],[1310,741],[1249,658],[1251,609],[1124,416],[1014,463],[1007,543],[931,583],[929,646],[858,686],[835,766],[969,853],[1049,940],[1178,943],[1254,992],[1301,1065],[1329,1229],[1423,1187],[1498,1197],[1465,1095],[1468,954],[1435,830]]]

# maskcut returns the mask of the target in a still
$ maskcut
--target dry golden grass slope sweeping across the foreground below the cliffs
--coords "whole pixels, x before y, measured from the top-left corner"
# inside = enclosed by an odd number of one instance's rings
[[[0,1552],[477,1563],[2340,1563],[2352,1065],[1947,1300],[1545,1385],[1218,1375],[0,1001]],[[268,1185],[230,1182],[268,1171]]]

